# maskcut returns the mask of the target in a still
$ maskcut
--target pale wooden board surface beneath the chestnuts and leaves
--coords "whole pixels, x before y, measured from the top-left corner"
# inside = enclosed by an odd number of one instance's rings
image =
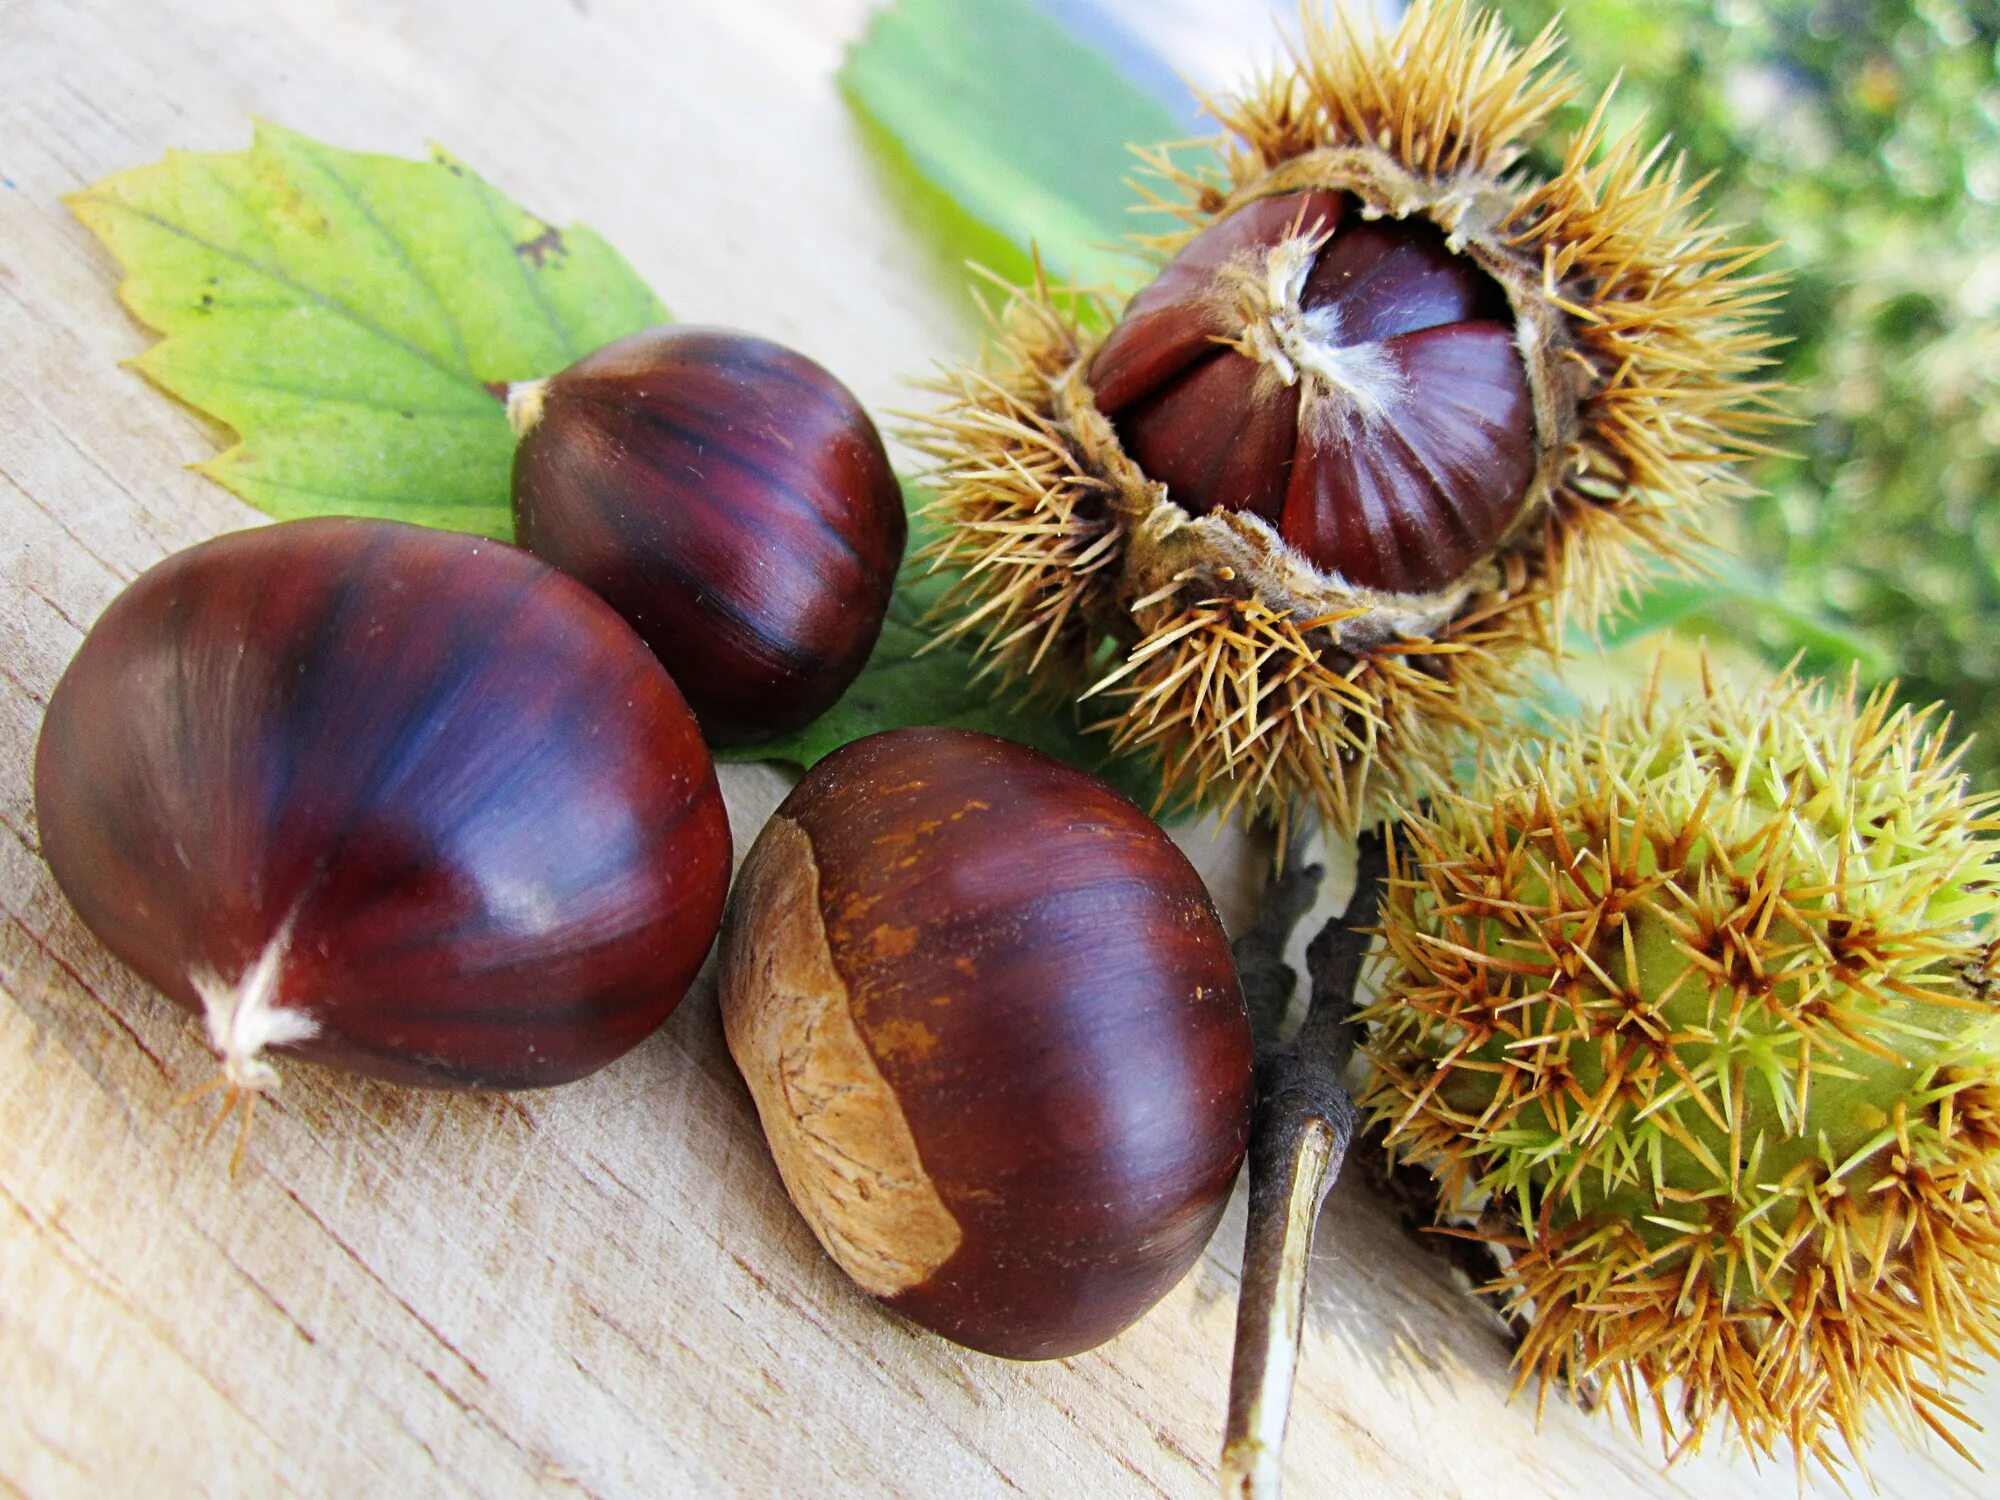
[[[26,1496],[1202,1496],[1240,1200],[1136,1330],[1014,1366],[852,1292],[784,1200],[712,994],[548,1094],[296,1066],[244,1172],[174,1100],[194,1024],[78,926],[28,766],[80,632],[166,552],[254,520],[182,470],[204,424],[58,196],[266,116],[438,140],[618,244],[682,318],[788,340],[876,406],[970,348],[832,74],[864,0],[0,0],[0,1490]],[[780,792],[732,772],[740,842]],[[1228,846],[1204,850],[1242,904]],[[1976,1406],[1994,1414],[1994,1382]],[[1494,1336],[1386,1212],[1330,1210],[1294,1496],[1796,1494],[1662,1472],[1602,1420],[1506,1404]],[[1994,1434],[1974,1438],[2000,1468]],[[1940,1450],[1942,1454],[1942,1450]],[[1876,1450],[1886,1494],[1990,1494]]]

